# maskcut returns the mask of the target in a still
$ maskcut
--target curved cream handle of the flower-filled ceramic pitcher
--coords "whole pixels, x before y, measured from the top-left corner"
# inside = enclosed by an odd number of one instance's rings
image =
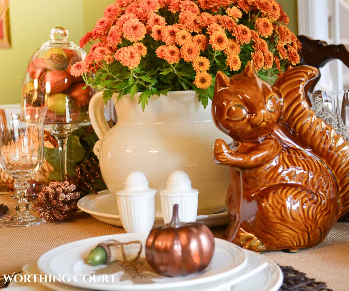
[[[110,130],[104,116],[103,91],[97,92],[92,96],[88,110],[91,125],[98,138],[102,140],[106,133]]]

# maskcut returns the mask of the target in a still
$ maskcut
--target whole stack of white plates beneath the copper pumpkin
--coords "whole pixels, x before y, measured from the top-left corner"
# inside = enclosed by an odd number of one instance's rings
[[[63,276],[70,278],[69,282],[65,280],[66,283],[40,283],[40,287],[46,286],[59,291],[89,289],[108,291],[277,291],[282,284],[282,271],[273,261],[218,238],[215,238],[215,253],[210,265],[198,274],[170,278],[159,276],[152,271],[141,271],[137,276],[131,276],[133,279],[122,279],[122,276],[127,275],[128,272],[125,269],[107,274],[107,276],[104,275],[108,280],[98,279],[99,275],[95,275],[97,278],[95,282],[94,280],[88,282],[93,274],[107,266],[92,267],[86,262],[87,256],[98,243],[109,239],[116,239],[120,242],[139,240],[144,246],[147,234],[108,235],[62,245],[42,255],[36,264],[24,266],[23,271],[29,275],[48,274],[54,275],[56,278],[63,278]],[[125,246],[128,259],[136,256],[138,251],[139,245],[137,244]],[[144,257],[143,247],[141,258]],[[101,271],[99,274],[104,274]],[[84,276],[85,280],[83,280]],[[74,277],[77,279],[74,280]]]

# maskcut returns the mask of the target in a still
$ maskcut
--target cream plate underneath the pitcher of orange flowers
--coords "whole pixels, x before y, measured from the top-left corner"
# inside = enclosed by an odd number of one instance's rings
[[[77,202],[77,207],[79,207],[83,212],[95,217],[95,219],[122,227],[116,198],[109,192],[109,190],[101,191],[98,194],[89,194],[81,198]],[[223,210],[222,212],[215,214],[197,215],[196,222],[201,222],[207,227],[228,225],[228,212],[227,210]],[[154,224],[159,225],[163,223],[164,219],[162,212],[157,209]]]

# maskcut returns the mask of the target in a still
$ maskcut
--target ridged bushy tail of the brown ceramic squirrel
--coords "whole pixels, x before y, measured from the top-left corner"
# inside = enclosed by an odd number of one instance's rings
[[[349,210],[349,144],[306,102],[304,86],[318,74],[318,69],[310,66],[295,67],[277,79],[273,88],[283,98],[281,123],[300,146],[325,162],[337,181],[338,219]]]

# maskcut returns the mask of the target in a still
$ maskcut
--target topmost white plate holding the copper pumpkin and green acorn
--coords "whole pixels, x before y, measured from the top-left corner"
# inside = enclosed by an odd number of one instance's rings
[[[235,244],[227,242],[226,240],[215,238],[215,253],[210,265],[198,274],[193,274],[185,277],[164,277],[156,274],[153,270],[138,272],[137,276],[131,279],[121,279],[127,272],[113,270],[105,271],[99,269],[108,268],[105,265],[101,266],[90,266],[86,263],[89,252],[98,244],[105,240],[116,239],[120,242],[129,242],[139,240],[143,246],[147,239],[147,233],[122,233],[117,235],[108,235],[102,237],[94,237],[77,242],[69,243],[42,255],[37,264],[40,271],[44,274],[51,274],[56,277],[62,277],[63,275],[72,278],[70,282],[66,283],[71,286],[80,288],[91,288],[96,290],[168,290],[174,288],[187,288],[196,284],[203,284],[212,282],[215,280],[227,278],[237,271],[241,270],[247,263],[247,255],[244,250]],[[139,251],[138,244],[126,245],[125,253],[127,258],[131,259],[136,256]],[[142,248],[141,258],[145,258],[144,247]],[[120,253],[121,259],[121,253]],[[112,268],[110,263],[109,268]],[[108,276],[109,282],[84,282],[82,280],[84,275],[98,274],[113,274]],[[134,273],[133,273],[134,274]],[[73,280],[74,276],[77,276],[78,281]],[[86,278],[88,278],[87,276]],[[97,275],[97,278],[98,275]],[[81,280],[80,280],[81,279]],[[98,280],[97,280],[98,281]],[[113,282],[112,282],[113,281]]]

